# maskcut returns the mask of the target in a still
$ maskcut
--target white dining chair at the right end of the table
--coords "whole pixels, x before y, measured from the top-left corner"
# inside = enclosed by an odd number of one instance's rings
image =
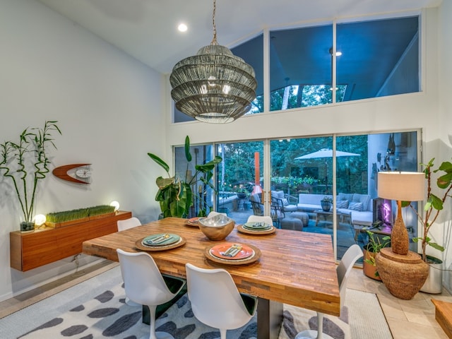
[[[347,291],[347,279],[350,271],[355,265],[355,262],[363,256],[362,249],[357,244],[352,246],[345,251],[344,256],[340,260],[338,267],[336,267],[336,272],[338,273],[339,282],[339,295],[340,295],[340,309],[343,307],[345,302],[345,292]],[[295,335],[295,339],[333,339],[330,335],[323,333],[323,314],[317,312],[317,328],[318,331],[306,330]]]

